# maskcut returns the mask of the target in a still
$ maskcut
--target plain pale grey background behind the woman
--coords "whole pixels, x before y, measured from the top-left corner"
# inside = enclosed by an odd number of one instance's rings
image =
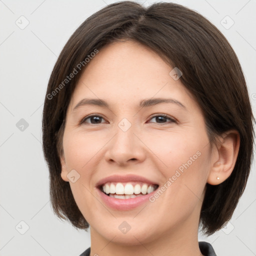
[[[0,0],[0,256],[78,256],[90,246],[89,232],[76,230],[52,212],[41,115],[47,81],[65,42],[85,18],[112,2]],[[147,6],[155,1],[137,2]],[[244,71],[255,115],[256,0],[173,2],[204,15],[228,39]],[[253,162],[228,225],[208,237],[198,234],[218,256],[256,255],[255,181]]]

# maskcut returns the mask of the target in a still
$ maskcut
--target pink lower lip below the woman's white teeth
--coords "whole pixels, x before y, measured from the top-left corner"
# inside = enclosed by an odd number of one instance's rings
[[[135,198],[127,198],[127,199],[119,199],[119,198],[110,197],[110,196],[106,195],[105,193],[103,193],[99,188],[97,188],[97,191],[99,193],[99,196],[101,197],[101,199],[107,206],[109,206],[113,209],[117,209],[117,210],[131,210],[131,209],[134,209],[134,208],[138,207],[139,205],[145,203],[146,201],[150,202],[149,197],[156,190],[149,194],[137,196]]]

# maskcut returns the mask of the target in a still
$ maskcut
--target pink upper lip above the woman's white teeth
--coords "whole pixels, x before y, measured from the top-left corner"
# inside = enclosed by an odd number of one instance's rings
[[[108,177],[100,179],[97,183],[96,186],[100,187],[103,184],[107,182],[144,182],[147,184],[157,184],[156,182],[134,174],[126,174],[126,175],[118,175],[118,174],[113,174]]]

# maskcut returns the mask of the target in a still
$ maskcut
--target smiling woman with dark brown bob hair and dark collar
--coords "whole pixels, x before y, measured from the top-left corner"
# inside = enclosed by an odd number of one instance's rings
[[[54,212],[90,225],[81,255],[216,255],[199,241],[231,218],[253,150],[237,57],[175,3],[109,4],[52,70],[43,150]]]

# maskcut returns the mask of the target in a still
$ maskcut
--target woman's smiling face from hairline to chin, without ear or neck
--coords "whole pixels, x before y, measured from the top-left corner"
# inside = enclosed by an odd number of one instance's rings
[[[138,244],[187,228],[197,235],[210,145],[197,102],[171,70],[150,48],[114,42],[90,60],[75,87],[61,177],[93,237]],[[134,198],[110,197],[101,185],[111,196]]]

